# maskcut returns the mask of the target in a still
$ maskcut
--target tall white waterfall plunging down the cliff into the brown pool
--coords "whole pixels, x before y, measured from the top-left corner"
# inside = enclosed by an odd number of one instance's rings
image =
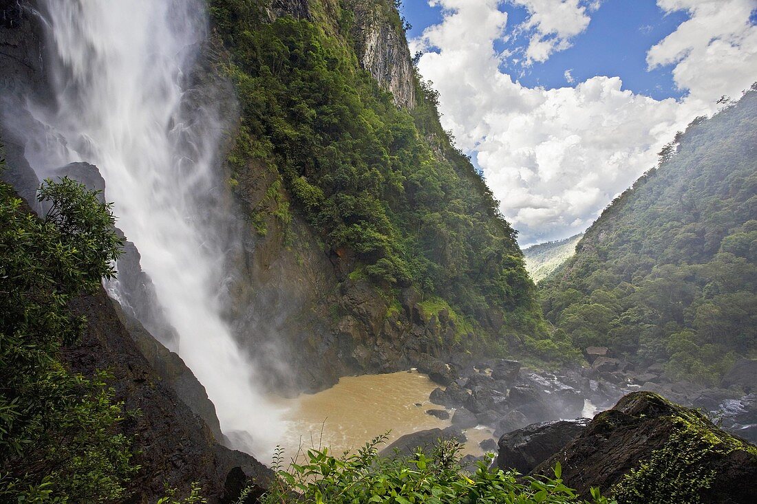
[[[28,104],[45,135],[26,157],[39,176],[74,161],[98,166],[117,226],[178,334],[171,350],[206,388],[222,430],[250,433],[251,446],[235,447],[263,456],[282,433],[280,412],[256,389],[219,294],[231,235],[231,217],[214,203],[225,191],[213,170],[219,112],[198,106],[185,84],[207,36],[204,2],[46,3],[55,99]]]

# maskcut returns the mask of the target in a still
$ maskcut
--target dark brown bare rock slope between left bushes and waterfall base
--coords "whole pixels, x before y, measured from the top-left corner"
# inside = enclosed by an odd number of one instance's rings
[[[262,491],[271,471],[246,453],[217,443],[202,418],[142,356],[103,290],[76,300],[72,308],[88,323],[82,341],[64,351],[64,362],[83,375],[109,369],[116,399],[126,411],[140,412],[127,415],[121,425],[124,434],[134,437],[134,463],[142,466],[129,482],[129,502],[155,502],[164,495],[164,484],[188,490],[192,481],[201,484],[209,502],[233,502],[245,483]]]

